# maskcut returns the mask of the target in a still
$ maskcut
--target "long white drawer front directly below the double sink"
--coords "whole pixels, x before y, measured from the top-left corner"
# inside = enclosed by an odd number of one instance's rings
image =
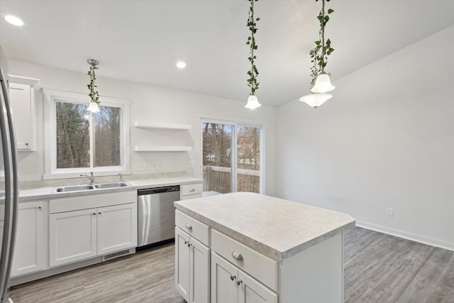
[[[96,207],[129,204],[135,202],[137,202],[137,191],[116,192],[112,194],[89,194],[80,197],[52,199],[49,202],[49,213],[56,214],[64,211],[95,209]]]

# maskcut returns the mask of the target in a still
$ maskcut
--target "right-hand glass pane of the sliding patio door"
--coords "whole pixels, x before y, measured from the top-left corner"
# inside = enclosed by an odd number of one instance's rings
[[[237,126],[237,192],[260,193],[260,133],[258,126]]]

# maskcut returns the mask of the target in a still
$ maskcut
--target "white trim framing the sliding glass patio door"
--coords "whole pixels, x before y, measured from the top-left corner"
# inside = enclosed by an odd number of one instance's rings
[[[203,148],[204,148],[204,138],[203,138],[203,133],[201,131],[201,123],[218,123],[218,124],[229,124],[235,126],[235,136],[236,138],[237,134],[237,127],[238,125],[240,126],[253,126],[253,127],[260,127],[262,128],[262,133],[260,136],[260,194],[265,194],[265,128],[266,128],[266,123],[260,123],[258,121],[239,121],[236,119],[223,119],[223,118],[210,118],[210,117],[199,117],[199,138],[200,138],[200,176],[203,177],[203,162],[204,159],[202,159],[203,156]],[[232,139],[233,140],[233,139]],[[233,163],[236,163],[236,151],[238,148],[238,144],[236,140],[233,140],[232,146],[235,150],[235,153],[232,154],[231,161]],[[238,167],[235,167],[235,170],[237,170]],[[235,190],[237,187],[237,180],[236,180],[236,174],[232,174],[232,184],[235,186]],[[235,192],[235,191],[233,191]]]

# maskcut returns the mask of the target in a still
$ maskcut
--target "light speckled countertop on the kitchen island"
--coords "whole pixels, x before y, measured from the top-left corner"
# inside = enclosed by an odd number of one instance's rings
[[[237,192],[174,202],[179,211],[275,260],[284,260],[355,226],[339,211]]]

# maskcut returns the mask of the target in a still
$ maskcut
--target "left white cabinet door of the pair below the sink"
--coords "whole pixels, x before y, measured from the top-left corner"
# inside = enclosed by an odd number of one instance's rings
[[[49,215],[49,265],[96,255],[96,209]]]

